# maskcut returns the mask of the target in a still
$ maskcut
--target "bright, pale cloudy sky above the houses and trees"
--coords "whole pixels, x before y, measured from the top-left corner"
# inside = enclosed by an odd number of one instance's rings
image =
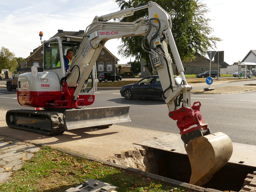
[[[224,51],[224,61],[232,65],[243,60],[250,50],[256,50],[253,0],[199,0],[207,5],[212,19],[211,35],[223,41],[217,43],[214,51]],[[16,57],[27,58],[33,49],[58,32],[85,30],[94,16],[101,16],[120,10],[113,0],[10,0],[0,1],[0,48],[8,48]],[[175,25],[173,23],[173,25]],[[120,40],[109,40],[105,47],[124,64],[134,58],[117,54]],[[209,49],[210,51],[210,49]]]

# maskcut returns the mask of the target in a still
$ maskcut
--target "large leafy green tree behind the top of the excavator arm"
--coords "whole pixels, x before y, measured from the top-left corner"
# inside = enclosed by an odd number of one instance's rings
[[[148,3],[148,0],[115,0],[120,9],[139,7]],[[221,41],[216,36],[211,36],[213,29],[209,26],[211,21],[207,18],[209,9],[206,4],[198,0],[155,0],[164,8],[172,18],[172,35],[178,48],[181,61],[195,60],[195,55],[206,55],[209,48],[216,48],[216,43]],[[140,17],[146,18],[148,9],[134,12],[133,16],[120,19],[123,22],[132,22]],[[144,60],[145,67],[153,75],[152,66],[149,63],[148,53],[140,47],[141,36],[125,37],[118,46],[118,53],[124,57],[135,57],[136,60]],[[171,50],[169,51],[172,57]],[[173,57],[172,57],[173,60]],[[173,60],[173,62],[175,62]],[[176,70],[176,74],[178,71]]]

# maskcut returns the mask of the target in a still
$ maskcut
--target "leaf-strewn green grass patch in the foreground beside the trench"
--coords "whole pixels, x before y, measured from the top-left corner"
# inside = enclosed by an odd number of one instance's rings
[[[97,179],[119,187],[119,192],[188,192],[189,189],[161,183],[157,180],[95,161],[72,156],[45,146],[9,181],[0,184],[5,192],[64,192],[84,180]]]

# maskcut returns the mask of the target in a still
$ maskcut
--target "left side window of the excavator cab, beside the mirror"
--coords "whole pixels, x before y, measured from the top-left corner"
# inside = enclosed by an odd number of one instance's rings
[[[50,45],[50,47],[48,45]],[[60,67],[60,50],[57,39],[45,44],[44,54],[44,69]]]

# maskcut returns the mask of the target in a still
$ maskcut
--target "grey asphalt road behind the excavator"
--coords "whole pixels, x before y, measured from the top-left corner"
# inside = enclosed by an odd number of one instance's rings
[[[202,103],[201,112],[211,131],[226,133],[233,142],[256,145],[256,91],[225,95],[191,95],[192,103]],[[0,108],[31,109],[17,102],[16,91],[0,88]],[[132,122],[120,125],[179,133],[176,122],[168,116],[167,105],[160,99],[125,100],[119,90],[99,90],[90,107],[130,105]]]

